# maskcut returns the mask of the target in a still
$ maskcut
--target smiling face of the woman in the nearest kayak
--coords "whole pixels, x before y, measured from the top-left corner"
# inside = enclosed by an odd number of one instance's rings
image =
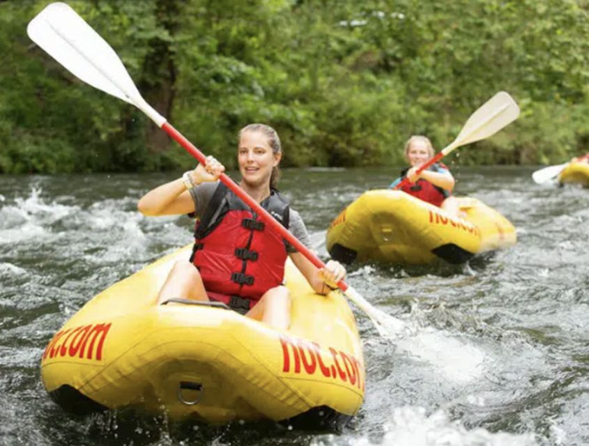
[[[262,132],[247,131],[241,134],[238,146],[238,164],[241,178],[251,187],[270,183],[273,167],[280,162],[282,153],[273,153],[268,137]]]

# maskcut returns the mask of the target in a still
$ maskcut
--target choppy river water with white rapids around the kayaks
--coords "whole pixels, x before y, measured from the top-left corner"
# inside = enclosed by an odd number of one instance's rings
[[[173,174],[0,176],[0,444],[588,444],[589,190],[541,187],[532,171],[453,169],[458,194],[517,226],[514,247],[468,266],[349,269],[372,305],[420,332],[392,344],[354,308],[367,394],[342,433],[63,413],[40,383],[47,341],[93,295],[188,243],[191,222],[135,210]],[[326,256],[332,218],[396,172],[293,169],[281,189]]]

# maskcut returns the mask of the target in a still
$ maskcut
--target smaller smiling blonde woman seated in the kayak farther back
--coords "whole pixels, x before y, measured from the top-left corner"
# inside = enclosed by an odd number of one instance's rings
[[[401,171],[401,177],[393,181],[389,186],[394,189],[405,177],[411,181],[408,185],[401,187],[401,190],[443,208],[452,217],[459,215],[457,200],[452,197],[454,189],[454,177],[445,164],[435,163],[429,168],[417,174],[418,168],[434,156],[434,146],[427,137],[412,136],[405,144],[405,157],[409,167]]]

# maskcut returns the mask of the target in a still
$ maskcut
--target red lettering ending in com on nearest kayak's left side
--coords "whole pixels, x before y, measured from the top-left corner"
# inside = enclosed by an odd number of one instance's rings
[[[82,359],[86,352],[87,360],[102,360],[102,349],[111,325],[111,323],[81,325],[57,332],[45,348],[43,361],[54,357],[75,357],[78,351]],[[88,346],[87,350],[86,346]]]

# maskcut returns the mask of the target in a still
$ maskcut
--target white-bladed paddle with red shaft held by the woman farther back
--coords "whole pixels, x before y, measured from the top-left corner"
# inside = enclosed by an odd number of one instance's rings
[[[515,121],[517,116],[519,116],[519,107],[517,106],[517,103],[509,93],[500,91],[481,105],[476,112],[471,114],[471,117],[468,118],[468,121],[466,121],[462,130],[460,130],[456,139],[437,155],[432,157],[431,160],[424,162],[424,164],[417,169],[416,173],[420,174],[431,166],[431,164],[438,162],[455,148],[490,137],[492,134],[495,134],[504,128],[505,125]],[[400,189],[408,183],[411,183],[411,181],[409,181],[408,178],[403,178],[403,180],[395,186],[395,189]]]

